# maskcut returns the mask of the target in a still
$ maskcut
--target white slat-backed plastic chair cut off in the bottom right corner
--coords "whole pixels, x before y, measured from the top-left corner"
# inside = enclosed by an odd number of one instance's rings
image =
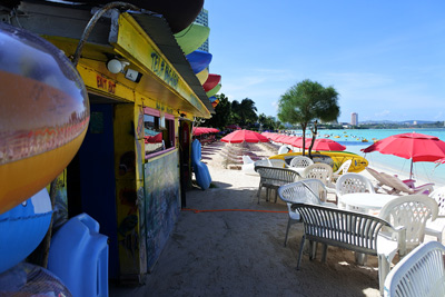
[[[445,296],[445,247],[421,245],[394,266],[385,279],[385,297]]]

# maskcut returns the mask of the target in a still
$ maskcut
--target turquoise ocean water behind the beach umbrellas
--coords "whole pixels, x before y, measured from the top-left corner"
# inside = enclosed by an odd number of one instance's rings
[[[297,136],[303,135],[301,130],[293,130],[293,132]],[[346,151],[355,152],[365,157],[369,161],[369,167],[375,166],[380,170],[387,170],[399,176],[408,176],[411,160],[392,155],[383,155],[378,151],[364,154],[360,150],[373,145],[374,140],[379,140],[392,135],[409,132],[435,136],[445,141],[445,128],[318,130],[317,138],[329,138],[346,146]],[[310,136],[310,132],[306,133],[306,136]],[[368,142],[363,142],[364,139],[367,139]],[[434,162],[414,162],[413,172],[414,179],[434,182],[436,187],[445,186],[445,164],[436,165]]]

